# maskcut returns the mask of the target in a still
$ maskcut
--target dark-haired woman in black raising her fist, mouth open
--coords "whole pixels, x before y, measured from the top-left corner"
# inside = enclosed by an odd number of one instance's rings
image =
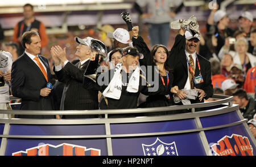
[[[138,36],[139,28],[134,27],[132,38],[133,45],[139,50],[140,53],[144,55],[143,59],[139,60],[140,66],[152,66],[152,70],[147,70],[152,72],[152,77],[154,77],[154,72],[158,74],[158,86],[169,86],[172,93],[176,93],[178,90],[177,86],[172,87],[172,70],[167,66],[167,57],[169,52],[164,45],[156,44],[148,49],[147,44],[144,42],[141,36]],[[148,74],[147,74],[148,76]],[[154,78],[152,79],[154,81]],[[171,93],[170,93],[171,94]],[[146,102],[139,105],[139,108],[150,108],[159,106],[170,106],[173,105],[174,101],[172,95],[152,95],[148,96]]]

